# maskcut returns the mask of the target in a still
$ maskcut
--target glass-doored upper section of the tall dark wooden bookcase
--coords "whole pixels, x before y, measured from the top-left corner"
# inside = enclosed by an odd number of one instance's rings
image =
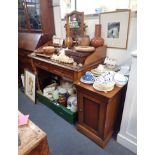
[[[55,33],[52,0],[18,0],[20,32]]]

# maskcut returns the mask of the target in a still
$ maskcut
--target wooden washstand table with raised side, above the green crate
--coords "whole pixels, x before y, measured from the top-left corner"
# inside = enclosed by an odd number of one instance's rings
[[[29,57],[31,58],[33,70],[37,75],[39,69],[42,69],[75,82],[78,81],[86,71],[103,63],[106,57],[106,46],[96,48],[96,50],[85,59],[85,62],[81,67],[74,67],[73,64],[58,63],[51,59],[38,57],[34,55],[34,53],[30,54]]]

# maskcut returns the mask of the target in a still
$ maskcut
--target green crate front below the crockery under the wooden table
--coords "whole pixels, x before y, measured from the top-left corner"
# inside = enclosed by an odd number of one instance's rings
[[[52,109],[55,113],[57,113],[59,116],[61,116],[63,119],[65,119],[67,122],[73,124],[77,121],[77,112],[73,113],[66,107],[64,107],[61,104],[58,104],[56,101],[51,101],[45,96],[43,96],[41,93],[37,92],[37,99]]]

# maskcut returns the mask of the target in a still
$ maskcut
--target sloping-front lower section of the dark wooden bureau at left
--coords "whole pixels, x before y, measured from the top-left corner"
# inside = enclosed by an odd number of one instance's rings
[[[41,33],[19,33],[18,34],[18,79],[21,83],[20,75],[24,74],[24,69],[33,72],[32,63],[28,55],[49,40],[51,35]]]

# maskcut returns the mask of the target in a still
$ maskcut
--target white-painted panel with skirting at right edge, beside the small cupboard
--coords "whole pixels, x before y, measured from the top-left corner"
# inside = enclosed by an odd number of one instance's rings
[[[131,71],[117,142],[137,153],[137,51],[132,53]]]

